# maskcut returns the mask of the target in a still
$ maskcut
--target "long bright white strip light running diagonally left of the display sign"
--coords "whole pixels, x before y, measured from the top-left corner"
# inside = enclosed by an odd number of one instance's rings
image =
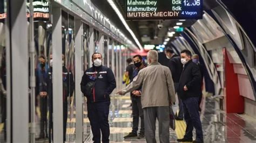
[[[127,31],[130,32],[130,34],[132,35],[132,38],[135,40],[136,44],[139,46],[140,50],[143,50],[142,45],[140,44],[139,40],[136,38],[136,35],[133,33],[133,31],[131,30],[131,28],[128,26],[128,24],[125,22],[125,19],[123,17],[123,15],[121,14],[121,12],[119,11],[119,9],[117,8],[117,5],[113,2],[113,0],[107,0],[107,2],[109,2],[109,4],[111,5],[112,9],[117,13],[119,19],[121,20],[121,22],[124,24],[125,28],[127,29]]]

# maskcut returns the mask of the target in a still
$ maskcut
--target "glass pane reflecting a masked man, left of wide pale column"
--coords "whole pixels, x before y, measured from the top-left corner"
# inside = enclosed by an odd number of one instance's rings
[[[52,56],[49,55],[50,45],[51,45],[51,27],[45,22],[35,22],[34,23],[34,34],[35,34],[35,61],[29,61],[35,63],[35,76],[36,76],[36,100],[35,100],[35,114],[31,112],[32,105],[29,106],[30,121],[33,118],[38,118],[36,120],[36,140],[47,139],[48,136],[48,125],[49,121],[47,118],[48,109],[52,109],[52,102],[48,101],[52,97],[52,84],[49,77],[51,72],[51,64],[49,60],[52,60]],[[30,57],[31,59],[31,57]],[[30,67],[29,67],[30,68]],[[31,98],[31,92],[29,94],[29,103],[32,103],[33,98]],[[52,117],[52,116],[51,116]],[[52,124],[51,124],[52,125]],[[49,126],[50,127],[50,126]]]

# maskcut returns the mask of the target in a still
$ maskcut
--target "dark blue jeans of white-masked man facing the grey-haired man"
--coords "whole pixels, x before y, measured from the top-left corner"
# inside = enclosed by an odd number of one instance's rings
[[[199,97],[190,97],[187,99],[182,99],[183,109],[184,109],[184,118],[187,124],[186,133],[184,138],[193,137],[193,128],[196,129],[196,140],[203,141],[203,130],[200,120],[200,115],[198,111],[198,100]]]

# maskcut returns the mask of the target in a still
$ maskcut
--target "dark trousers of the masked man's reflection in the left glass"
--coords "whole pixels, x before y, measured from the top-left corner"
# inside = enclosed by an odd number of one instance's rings
[[[40,96],[40,112],[41,112],[41,119],[40,119],[40,136],[44,137],[47,134],[47,96],[41,97]]]

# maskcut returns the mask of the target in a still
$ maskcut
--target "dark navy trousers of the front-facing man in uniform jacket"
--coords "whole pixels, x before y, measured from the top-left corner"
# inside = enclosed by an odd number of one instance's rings
[[[102,142],[109,142],[109,106],[110,101],[87,103],[88,118],[93,134],[92,140],[100,143],[100,131],[102,132]]]

